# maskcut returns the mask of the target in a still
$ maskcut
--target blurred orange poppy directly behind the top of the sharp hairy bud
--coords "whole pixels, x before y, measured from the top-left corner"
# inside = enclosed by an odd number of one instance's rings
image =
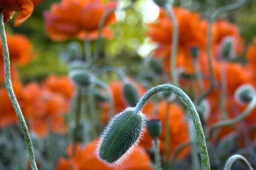
[[[143,88],[142,85],[135,83],[134,85],[139,93],[139,96],[142,97],[143,94],[146,92],[146,90]],[[114,106],[114,114],[120,113],[121,111],[125,110],[125,108],[129,107],[128,103],[125,100],[124,94],[123,94],[123,86],[124,83],[122,81],[114,81],[109,84],[109,88],[113,97],[113,106]],[[109,113],[109,104],[108,102],[104,102],[100,104],[100,107],[102,108],[102,111],[104,113],[103,120],[105,123],[108,122],[108,113]],[[143,113],[150,114],[152,113],[152,108],[154,108],[151,103],[147,103],[145,107],[143,108]]]

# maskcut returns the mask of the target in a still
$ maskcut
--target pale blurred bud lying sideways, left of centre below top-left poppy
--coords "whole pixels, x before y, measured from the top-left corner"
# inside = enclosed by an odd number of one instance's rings
[[[77,69],[70,71],[70,78],[74,81],[74,83],[78,86],[84,87],[90,85],[92,82],[92,75],[83,69]]]

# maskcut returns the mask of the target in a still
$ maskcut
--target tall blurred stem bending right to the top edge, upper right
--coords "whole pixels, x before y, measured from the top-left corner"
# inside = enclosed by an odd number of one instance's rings
[[[209,65],[209,71],[210,71],[210,86],[209,88],[201,94],[201,96],[198,97],[198,99],[195,100],[195,105],[198,105],[204,98],[206,98],[214,88],[214,70],[212,67],[212,56],[211,56],[211,37],[212,37],[212,25],[214,23],[214,20],[218,17],[219,14],[230,11],[236,8],[239,8],[242,6],[247,0],[240,0],[237,3],[234,3],[232,5],[224,6],[222,8],[217,9],[211,16],[209,20],[209,28],[207,31],[207,59],[208,59],[208,65]]]

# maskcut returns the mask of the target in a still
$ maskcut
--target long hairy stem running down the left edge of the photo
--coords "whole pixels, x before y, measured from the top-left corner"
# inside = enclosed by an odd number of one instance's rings
[[[21,112],[20,105],[16,99],[16,96],[15,96],[13,88],[12,88],[10,58],[9,58],[6,33],[5,33],[4,23],[3,23],[2,10],[1,10],[1,14],[0,14],[0,36],[1,36],[1,42],[2,42],[2,48],[3,48],[4,79],[5,79],[6,90],[9,95],[9,98],[12,102],[12,106],[15,109],[15,113],[18,117],[21,129],[24,134],[25,142],[27,145],[28,153],[29,153],[29,161],[30,161],[31,169],[37,170],[36,163],[35,163],[35,155],[34,155],[32,141],[31,141],[31,138],[29,135],[29,130],[26,125],[23,114]]]

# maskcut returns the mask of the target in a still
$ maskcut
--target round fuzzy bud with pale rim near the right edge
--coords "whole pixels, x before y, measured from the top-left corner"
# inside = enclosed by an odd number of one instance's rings
[[[235,99],[240,104],[247,104],[255,95],[255,89],[251,85],[241,85],[236,89]]]

